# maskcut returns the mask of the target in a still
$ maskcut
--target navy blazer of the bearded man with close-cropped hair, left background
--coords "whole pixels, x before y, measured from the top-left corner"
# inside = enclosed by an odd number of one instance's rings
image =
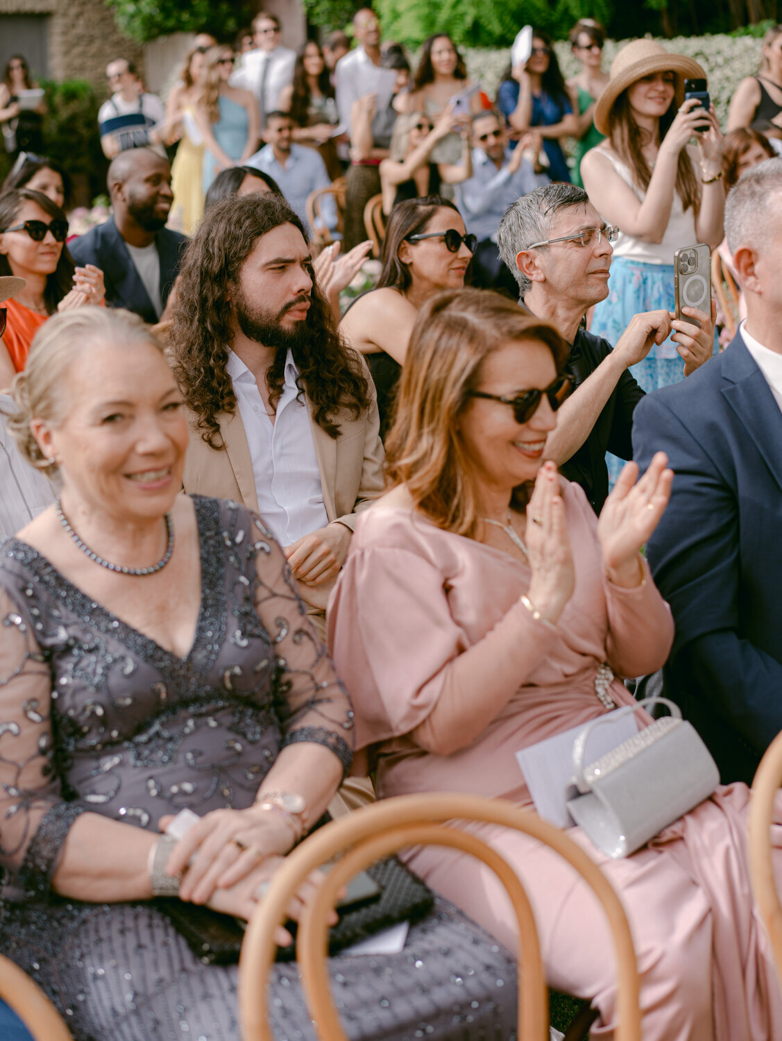
[[[179,258],[186,242],[185,235],[169,228],[162,228],[155,235],[155,246],[160,257],[160,300],[163,307],[179,271]],[[68,248],[79,266],[94,263],[103,272],[108,307],[125,307],[150,325],[157,322],[152,301],[112,217],[105,224],[91,228],[85,235],[74,238],[68,244]]]

